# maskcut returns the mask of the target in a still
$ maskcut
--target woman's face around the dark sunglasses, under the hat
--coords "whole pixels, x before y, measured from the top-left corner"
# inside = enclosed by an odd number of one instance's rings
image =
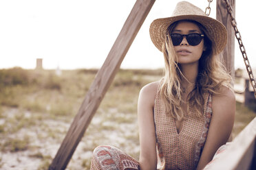
[[[198,33],[202,34],[201,30],[199,29],[198,25],[195,23],[191,23],[189,21],[180,21],[178,24],[173,28],[171,34],[191,34],[191,33]],[[198,63],[198,60],[202,56],[202,52],[204,51],[204,38],[200,42],[199,45],[189,45],[187,42],[186,37],[183,37],[182,42],[180,45],[173,46],[174,51],[178,55],[178,63],[180,64],[193,64]]]

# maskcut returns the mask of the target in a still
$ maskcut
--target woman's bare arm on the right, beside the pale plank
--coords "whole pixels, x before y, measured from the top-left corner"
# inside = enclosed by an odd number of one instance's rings
[[[224,145],[231,135],[235,121],[235,95],[229,88],[223,88],[221,95],[213,95],[213,116],[206,143],[198,162],[198,170],[203,169],[213,158],[217,149]]]

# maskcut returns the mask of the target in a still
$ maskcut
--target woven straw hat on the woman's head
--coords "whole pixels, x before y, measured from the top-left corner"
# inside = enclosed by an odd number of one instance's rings
[[[200,8],[195,5],[182,1],[176,5],[171,17],[154,20],[149,29],[153,44],[162,51],[162,44],[167,35],[167,28],[171,23],[180,20],[193,20],[201,23],[209,32],[209,36],[215,41],[216,52],[220,53],[226,45],[226,28],[219,21],[212,19],[204,14]]]

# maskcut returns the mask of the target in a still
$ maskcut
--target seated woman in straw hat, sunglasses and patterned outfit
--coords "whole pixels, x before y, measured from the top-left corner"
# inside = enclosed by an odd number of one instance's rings
[[[164,54],[165,75],[140,91],[140,160],[98,147],[92,169],[204,169],[228,141],[235,97],[217,56],[226,45],[224,25],[182,1],[173,16],[151,23],[150,36]]]

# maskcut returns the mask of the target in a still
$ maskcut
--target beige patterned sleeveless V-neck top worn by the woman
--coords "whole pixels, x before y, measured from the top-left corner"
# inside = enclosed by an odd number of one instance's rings
[[[160,91],[155,99],[154,121],[158,149],[158,169],[196,169],[211,121],[211,95],[204,94],[204,117],[191,115],[184,119],[177,131],[175,120],[164,112]]]

